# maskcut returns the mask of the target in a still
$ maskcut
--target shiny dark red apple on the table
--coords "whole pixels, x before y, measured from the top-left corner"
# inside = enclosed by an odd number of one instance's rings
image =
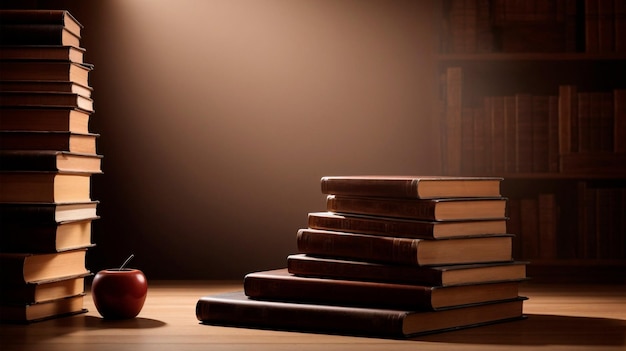
[[[105,269],[96,274],[91,284],[93,302],[106,319],[136,317],[147,294],[148,281],[138,269]]]

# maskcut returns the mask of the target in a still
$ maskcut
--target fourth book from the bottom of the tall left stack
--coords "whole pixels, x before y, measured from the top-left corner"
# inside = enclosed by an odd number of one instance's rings
[[[95,219],[98,217],[49,224],[3,220],[0,251],[52,253],[92,247],[91,224]]]

